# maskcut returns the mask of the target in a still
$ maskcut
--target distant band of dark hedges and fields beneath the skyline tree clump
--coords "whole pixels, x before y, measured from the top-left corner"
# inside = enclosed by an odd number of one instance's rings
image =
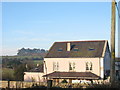
[[[3,56],[2,67],[14,68],[16,65],[27,64],[30,62],[41,63],[41,56]]]

